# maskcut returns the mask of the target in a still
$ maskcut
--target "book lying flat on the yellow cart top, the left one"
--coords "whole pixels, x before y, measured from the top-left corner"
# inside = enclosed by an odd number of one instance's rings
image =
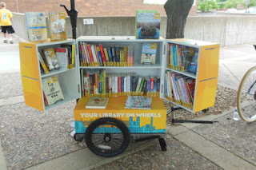
[[[90,97],[86,109],[106,109],[108,97]]]

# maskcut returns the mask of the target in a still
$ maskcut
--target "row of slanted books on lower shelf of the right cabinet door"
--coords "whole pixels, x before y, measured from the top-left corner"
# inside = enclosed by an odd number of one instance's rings
[[[165,76],[166,98],[192,109],[195,79],[171,71],[166,71]]]

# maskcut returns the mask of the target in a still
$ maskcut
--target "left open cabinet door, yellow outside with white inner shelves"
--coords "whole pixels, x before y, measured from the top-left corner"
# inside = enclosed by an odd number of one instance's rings
[[[59,69],[51,70],[49,73],[45,73],[42,69],[42,66],[40,66],[41,62],[39,61],[39,54],[43,56],[44,49],[54,49],[54,51],[56,51],[57,48],[66,48],[68,46],[70,46],[70,52],[68,53],[70,56],[67,57],[70,57],[70,60],[67,58],[66,61],[70,62],[72,66],[61,66]],[[19,50],[22,87],[26,105],[44,112],[46,110],[53,109],[58,105],[63,105],[66,102],[75,100],[81,96],[79,89],[80,85],[78,81],[78,64],[75,53],[75,40],[59,42],[45,41],[43,43],[20,42]],[[54,85],[56,85],[57,82],[59,87],[56,86],[52,88],[52,95],[49,97],[54,97],[54,95],[59,93],[59,89],[61,89],[63,95],[63,100],[54,102],[51,105],[50,102],[46,102],[47,98],[44,97],[44,90],[42,85],[42,82],[46,82],[46,80],[50,80],[50,78],[54,78]],[[46,83],[48,83],[48,85],[52,85],[49,81]]]

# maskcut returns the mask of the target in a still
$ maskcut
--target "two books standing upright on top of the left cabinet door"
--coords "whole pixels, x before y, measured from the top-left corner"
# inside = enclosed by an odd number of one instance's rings
[[[46,14],[44,12],[26,12],[26,28],[29,41],[47,40]],[[66,40],[66,14],[49,12],[50,40]]]

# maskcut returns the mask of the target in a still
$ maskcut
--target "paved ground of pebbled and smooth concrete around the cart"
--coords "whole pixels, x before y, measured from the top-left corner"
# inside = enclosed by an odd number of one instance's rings
[[[58,119],[61,114],[58,113],[58,109],[54,111],[53,117],[53,115],[49,115],[49,112],[39,113],[24,105],[19,75],[18,41],[22,40],[14,38],[14,45],[2,44],[2,34],[0,35],[1,170],[22,169],[28,166],[32,167],[27,169],[256,169],[254,149],[256,123],[247,124],[243,121],[233,121],[231,117],[234,108],[223,110],[219,115],[202,117],[205,120],[219,121],[214,125],[168,126],[167,152],[160,151],[158,141],[152,140],[144,143],[132,143],[126,152],[114,158],[95,156],[85,145],[77,144],[70,139],[71,129],[68,121],[72,120],[72,111],[69,111],[68,108],[74,103],[71,102],[62,107],[62,110],[65,110],[63,119]],[[220,50],[219,85],[238,89],[242,75],[247,69],[250,69],[250,66],[256,65],[254,63],[255,56],[256,52],[250,44],[222,47]],[[33,117],[40,117],[42,121],[35,122]],[[46,117],[53,117],[54,120],[46,119]],[[11,125],[6,125],[1,121],[7,119],[13,119]],[[51,136],[47,133],[47,128],[54,125],[62,126],[62,128],[56,129],[63,134],[62,136]],[[10,134],[2,136],[2,134],[8,134],[5,131],[6,126],[10,126],[8,128]],[[26,129],[31,129],[31,126],[42,128],[40,134],[45,135],[43,142],[37,140],[38,133],[26,132]],[[27,135],[30,133],[34,136]],[[20,136],[20,140],[14,141],[12,138],[14,135]],[[56,145],[52,145],[51,140]],[[70,140],[73,143],[70,146],[60,146],[63,145],[62,140]],[[20,150],[19,144],[27,144],[27,149]],[[38,149],[31,150],[30,145],[35,144],[38,145]],[[16,156],[10,157],[7,145],[9,148],[17,148]],[[65,152],[66,150],[70,151],[70,148],[65,147],[73,147],[72,152]],[[26,155],[29,156],[22,157],[23,162],[18,162],[18,156],[24,156],[22,154],[26,152]],[[38,156],[45,160],[34,161]],[[6,162],[6,160],[8,161]]]

